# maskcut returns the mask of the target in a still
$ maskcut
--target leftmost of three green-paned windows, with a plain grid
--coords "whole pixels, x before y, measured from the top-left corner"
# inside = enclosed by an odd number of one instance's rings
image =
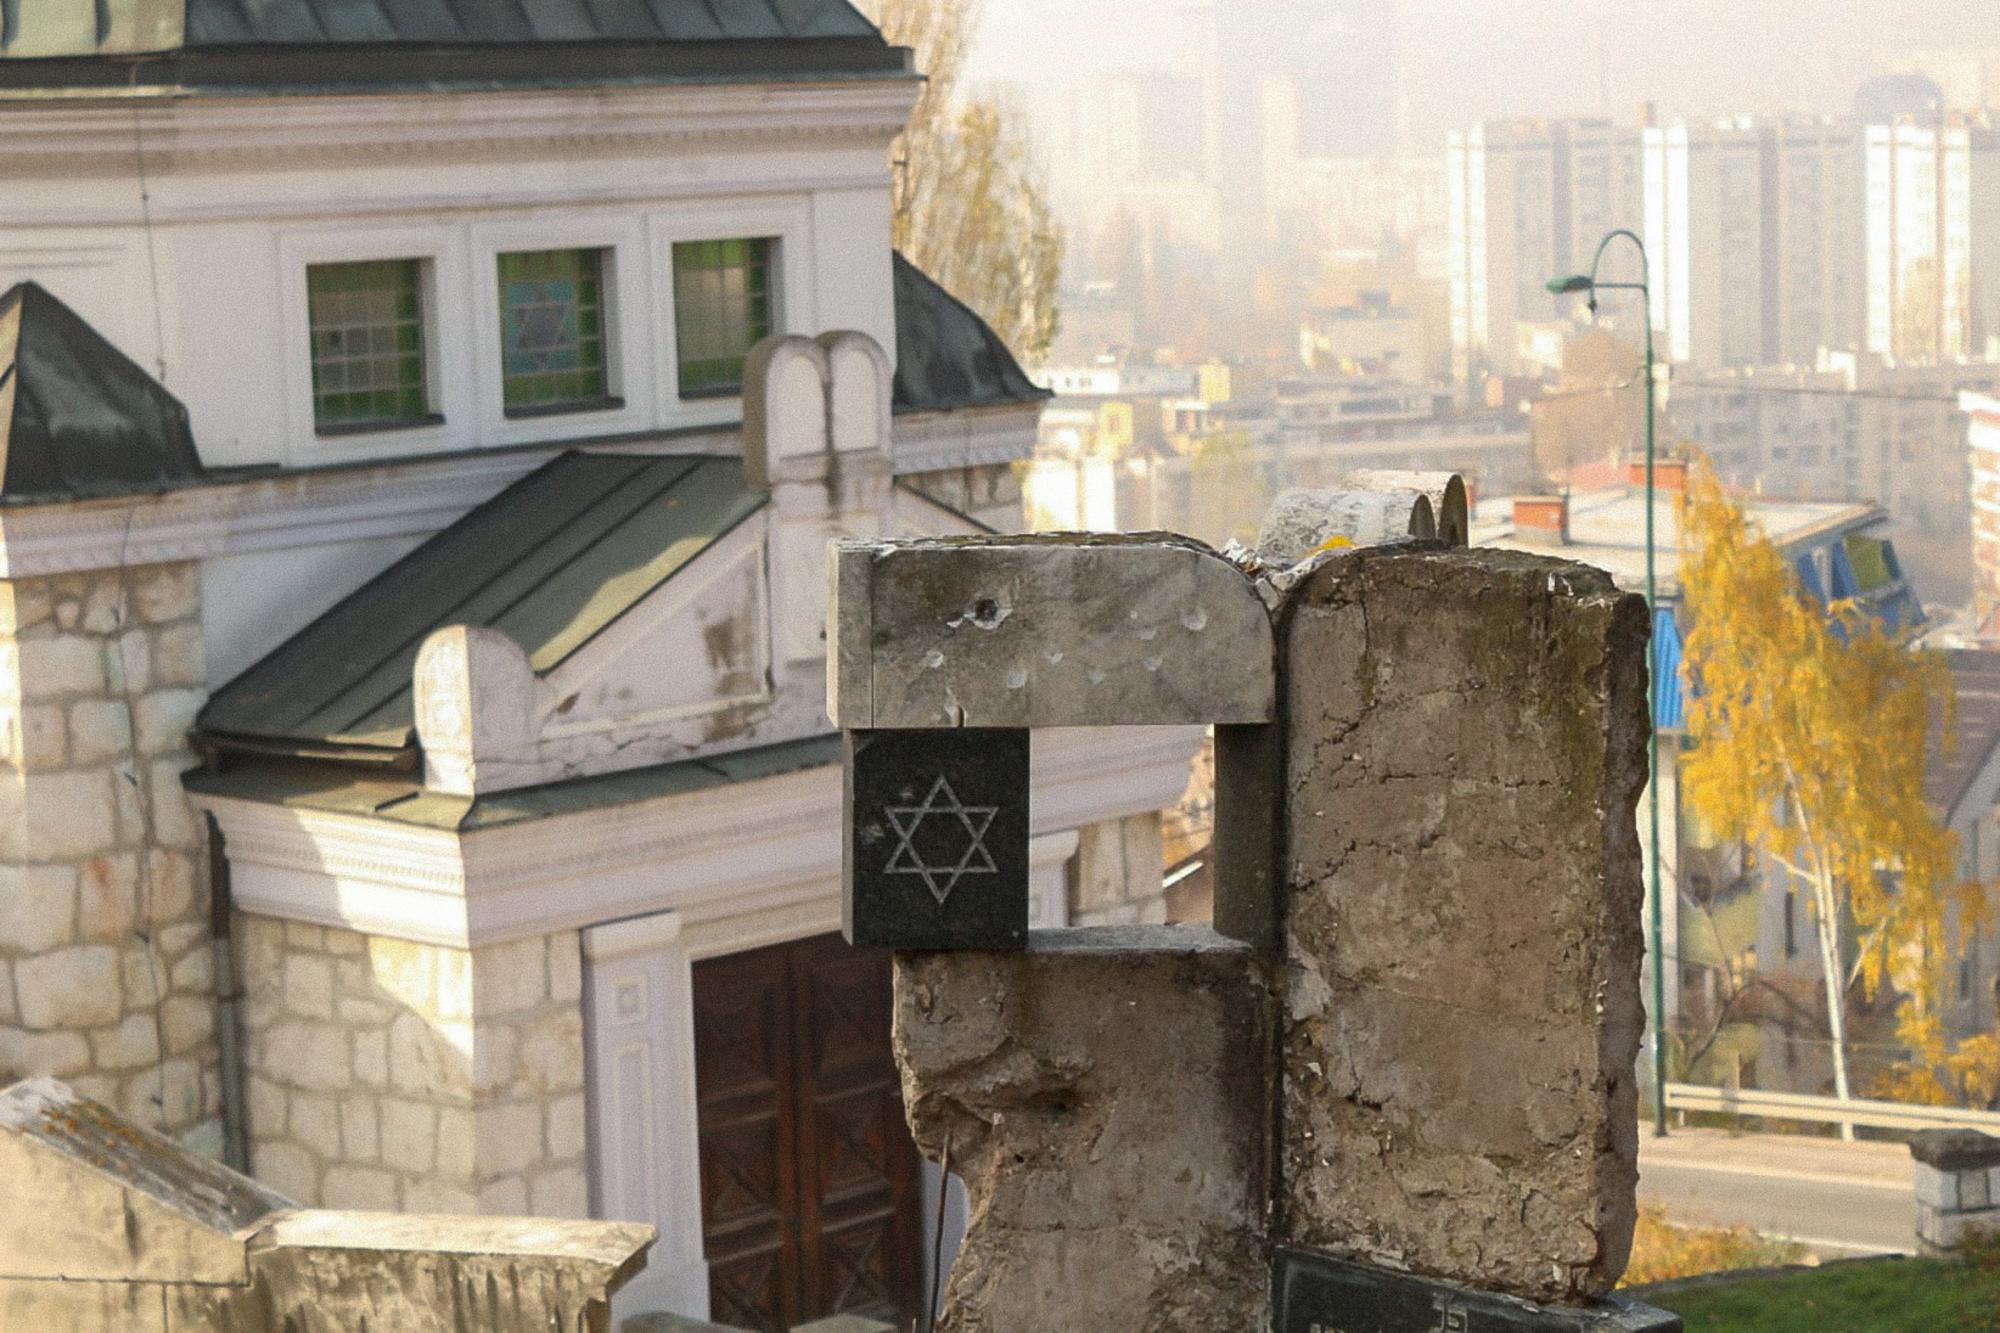
[[[432,420],[422,260],[312,264],[306,318],[322,432]]]

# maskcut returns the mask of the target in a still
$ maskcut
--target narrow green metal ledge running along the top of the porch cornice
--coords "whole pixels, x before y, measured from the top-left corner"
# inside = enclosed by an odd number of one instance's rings
[[[806,769],[828,769],[838,763],[840,737],[832,735],[626,769],[624,773],[566,779],[542,787],[518,787],[486,797],[426,791],[416,777],[368,773],[344,765],[262,759],[238,761],[224,769],[196,769],[182,775],[182,785],[206,797],[360,815],[416,829],[474,833],[638,801],[660,801],[732,783],[756,783]]]

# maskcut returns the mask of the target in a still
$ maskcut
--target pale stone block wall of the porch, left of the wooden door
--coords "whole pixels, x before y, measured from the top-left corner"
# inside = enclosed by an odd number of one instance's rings
[[[574,933],[446,949],[240,915],[252,1173],[306,1205],[588,1217]]]

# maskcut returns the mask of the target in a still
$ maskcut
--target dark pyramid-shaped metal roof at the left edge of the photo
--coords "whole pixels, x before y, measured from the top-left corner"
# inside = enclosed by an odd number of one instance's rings
[[[0,294],[0,504],[204,478],[188,408],[34,282]]]

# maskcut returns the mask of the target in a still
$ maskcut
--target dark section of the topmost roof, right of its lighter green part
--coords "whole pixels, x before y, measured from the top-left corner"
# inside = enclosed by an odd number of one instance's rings
[[[848,0],[188,0],[186,46],[874,36]]]

